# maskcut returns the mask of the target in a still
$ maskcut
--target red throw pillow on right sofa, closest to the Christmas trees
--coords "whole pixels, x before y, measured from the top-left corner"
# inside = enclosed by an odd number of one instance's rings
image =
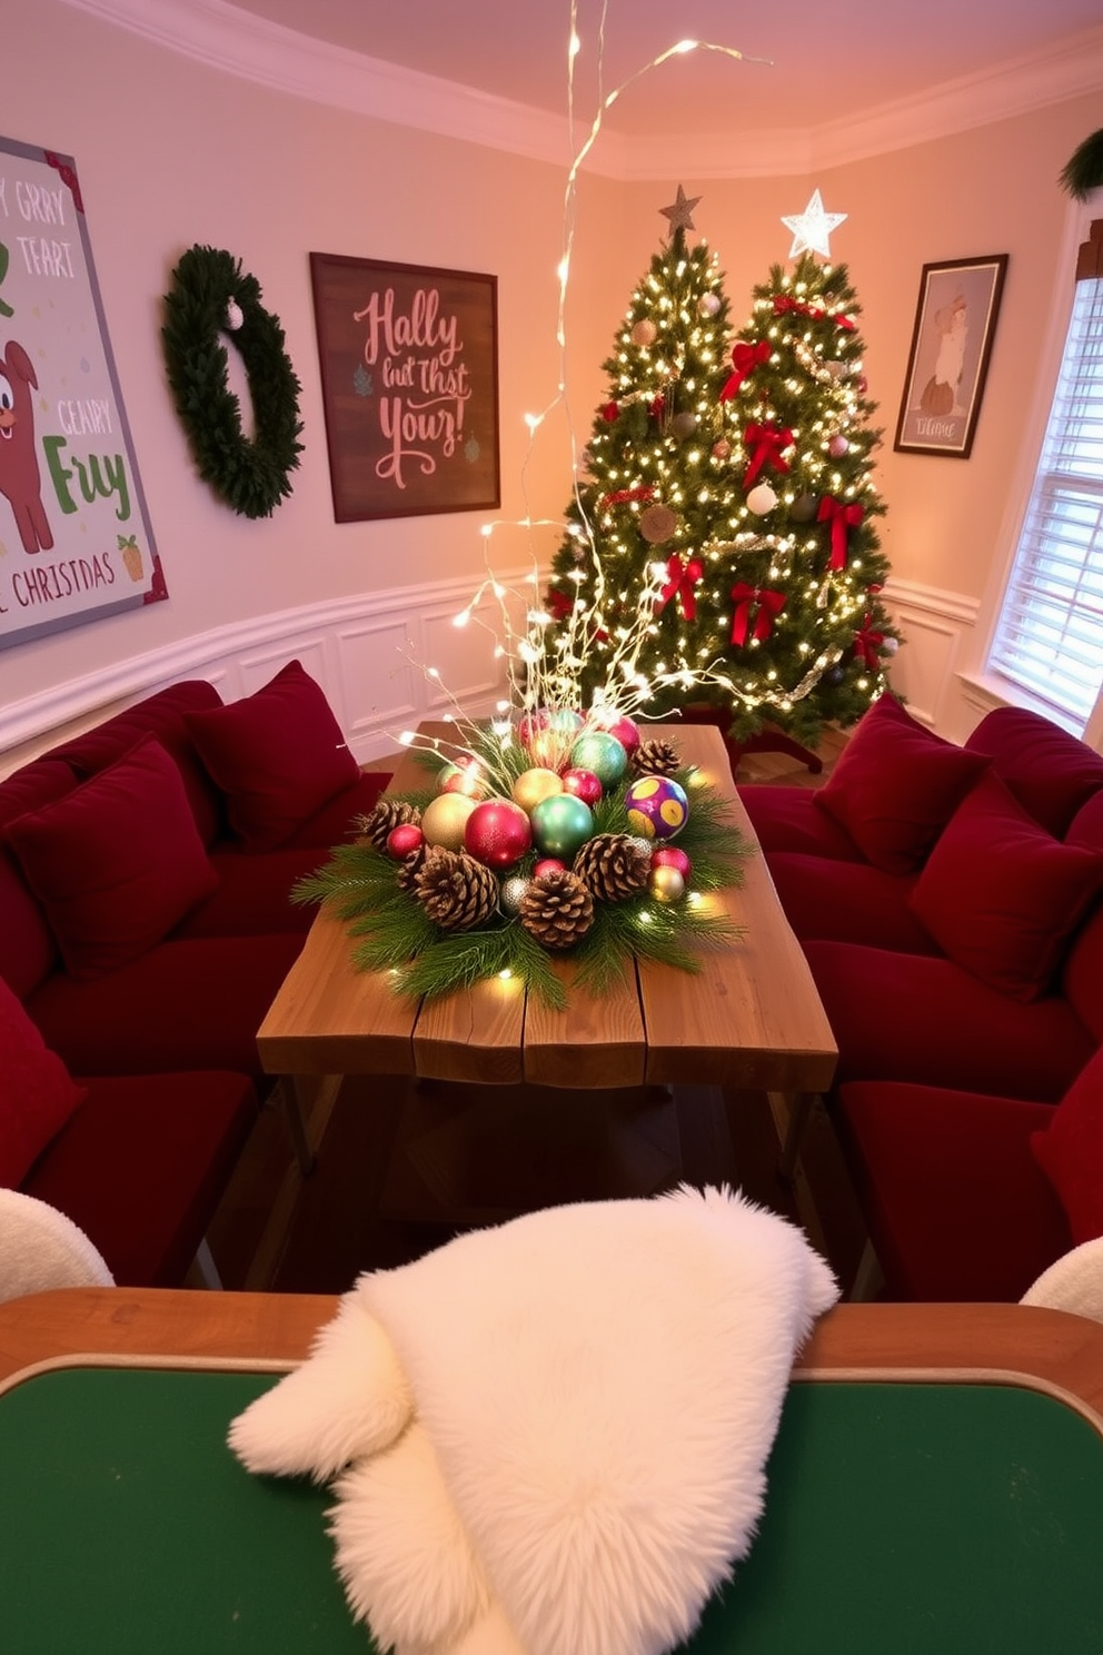
[[[989,763],[916,723],[893,695],[881,695],[814,798],[873,867],[913,874]]]

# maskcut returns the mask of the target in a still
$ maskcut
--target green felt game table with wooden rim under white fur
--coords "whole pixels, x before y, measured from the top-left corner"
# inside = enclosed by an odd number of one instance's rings
[[[332,1569],[327,1491],[250,1476],[225,1446],[336,1302],[0,1304],[3,1655],[374,1648]],[[1100,1655],[1103,1326],[1024,1306],[825,1316],[751,1554],[690,1648]]]

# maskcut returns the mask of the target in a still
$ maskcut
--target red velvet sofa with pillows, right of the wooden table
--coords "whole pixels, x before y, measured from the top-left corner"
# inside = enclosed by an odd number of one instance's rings
[[[1019,708],[959,748],[883,697],[822,788],[739,791],[888,1294],[1019,1298],[1103,1233],[1103,756]]]

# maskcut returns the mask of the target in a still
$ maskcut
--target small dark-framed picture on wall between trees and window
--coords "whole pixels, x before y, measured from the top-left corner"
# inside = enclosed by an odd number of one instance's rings
[[[923,266],[898,452],[969,458],[1005,271],[1007,253]]]

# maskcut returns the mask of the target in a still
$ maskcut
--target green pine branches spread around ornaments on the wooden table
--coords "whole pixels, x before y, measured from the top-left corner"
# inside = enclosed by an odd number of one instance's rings
[[[518,775],[524,768],[523,761]],[[625,831],[628,780],[595,804],[595,834]],[[693,766],[683,766],[675,780],[690,799],[690,819],[676,842],[693,864],[693,890],[704,894],[739,885],[741,862],[752,847],[733,826],[724,798],[704,786]],[[408,798],[413,801],[413,794]],[[504,872],[503,882],[518,875],[529,879],[536,859],[537,852],[529,852]],[[327,907],[347,927],[354,968],[392,971],[395,991],[405,996],[437,1000],[508,973],[541,1003],[554,1010],[566,1006],[567,990],[552,957],[516,915],[499,905],[478,930],[445,933],[420,902],[399,889],[400,866],[367,837],[339,844],[322,867],[298,880],[291,897]],[[741,927],[726,915],[709,914],[708,905],[661,904],[643,890],[618,902],[595,902],[594,927],[567,958],[577,963],[579,988],[602,995],[628,976],[633,958],[698,971],[701,948],[723,947],[741,935]]]

